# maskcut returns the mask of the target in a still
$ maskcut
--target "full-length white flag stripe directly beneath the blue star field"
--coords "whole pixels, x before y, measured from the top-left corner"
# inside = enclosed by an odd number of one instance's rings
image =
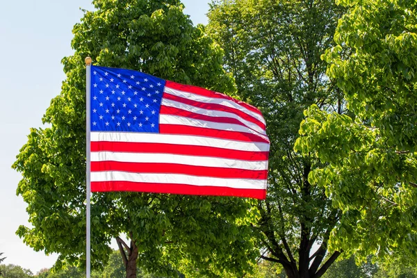
[[[143,132],[103,132],[92,131],[91,141],[108,142],[154,142],[175,145],[192,145],[236,149],[248,152],[268,152],[270,145],[265,142],[242,142],[204,136],[184,136],[178,134],[143,133]]]

